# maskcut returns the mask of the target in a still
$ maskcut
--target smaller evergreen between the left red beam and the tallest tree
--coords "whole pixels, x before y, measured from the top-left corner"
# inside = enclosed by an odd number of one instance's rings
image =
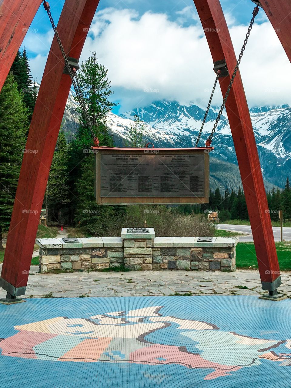
[[[69,145],[66,142],[64,132],[61,130],[55,147],[54,158],[50,168],[47,185],[47,196],[50,218],[62,221],[64,204],[69,202],[68,187],[68,159]]]

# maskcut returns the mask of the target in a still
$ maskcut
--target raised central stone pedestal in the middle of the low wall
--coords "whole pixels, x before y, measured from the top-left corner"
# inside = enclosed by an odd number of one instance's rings
[[[152,240],[155,237],[154,229],[147,228],[149,233],[128,233],[128,229],[122,228],[121,239],[123,241],[124,266],[131,270],[152,270]]]

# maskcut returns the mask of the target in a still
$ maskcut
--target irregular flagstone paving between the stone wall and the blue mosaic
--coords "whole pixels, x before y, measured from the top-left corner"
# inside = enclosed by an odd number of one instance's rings
[[[0,270],[1,270],[0,265]],[[261,295],[257,271],[130,271],[38,274],[31,266],[26,297],[151,296],[175,294]],[[291,297],[291,273],[282,273],[279,292]],[[123,293],[126,293],[123,295]],[[6,292],[0,289],[0,298]]]

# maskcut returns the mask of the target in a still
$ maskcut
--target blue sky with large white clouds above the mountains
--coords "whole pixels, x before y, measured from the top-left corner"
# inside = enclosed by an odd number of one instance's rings
[[[64,0],[50,0],[55,22]],[[221,0],[238,55],[255,6],[251,0]],[[22,47],[34,78],[42,78],[52,42],[49,18],[40,6]],[[116,112],[154,100],[207,105],[215,74],[210,51],[192,0],[100,0],[81,60],[96,51],[108,69]],[[291,65],[263,10],[241,64],[249,106],[290,104]],[[272,77],[270,77],[272,74]],[[289,77],[290,78],[290,77]],[[221,103],[220,90],[213,104]]]

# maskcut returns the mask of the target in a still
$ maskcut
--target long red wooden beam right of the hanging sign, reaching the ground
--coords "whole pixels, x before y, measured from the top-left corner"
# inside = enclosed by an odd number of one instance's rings
[[[236,55],[229,29],[219,0],[194,0],[194,3],[205,31],[213,62],[225,60],[229,69],[230,75],[219,78],[224,97],[230,76],[236,66]],[[251,17],[250,14],[250,20]],[[270,295],[276,294],[276,289],[281,284],[279,263],[253,126],[239,72],[227,99],[226,111],[246,196],[262,288],[268,290]],[[212,145],[215,146],[215,142],[218,141],[220,141],[219,135],[213,138]]]

